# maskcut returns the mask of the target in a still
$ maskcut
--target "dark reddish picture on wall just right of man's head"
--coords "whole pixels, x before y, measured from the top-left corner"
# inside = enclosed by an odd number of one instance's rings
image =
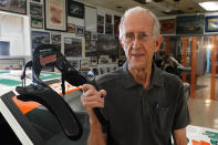
[[[176,34],[176,19],[160,20],[160,34]]]

